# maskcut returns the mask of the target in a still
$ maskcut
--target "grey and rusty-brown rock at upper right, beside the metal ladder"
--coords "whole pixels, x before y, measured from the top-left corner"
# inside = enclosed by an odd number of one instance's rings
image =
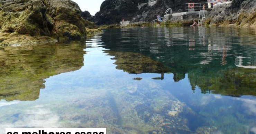
[[[256,27],[256,0],[233,0],[213,7],[205,21],[210,26]]]

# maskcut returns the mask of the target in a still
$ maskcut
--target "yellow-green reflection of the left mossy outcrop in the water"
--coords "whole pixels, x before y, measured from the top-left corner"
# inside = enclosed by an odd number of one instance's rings
[[[80,43],[0,48],[0,100],[33,101],[49,76],[83,66]]]

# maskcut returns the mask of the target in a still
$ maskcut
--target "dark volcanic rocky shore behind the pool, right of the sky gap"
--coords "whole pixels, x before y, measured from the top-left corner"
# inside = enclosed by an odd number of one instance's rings
[[[124,28],[152,26],[152,20],[156,19],[156,14],[163,16],[164,11],[167,8],[172,8],[174,14],[169,17],[167,27],[179,27],[189,26],[193,23],[193,19],[198,20],[198,13],[185,12],[184,7],[179,5],[185,5],[189,1],[168,2],[166,0],[157,1],[154,6],[149,6],[148,3],[143,4],[142,7],[136,9],[133,5],[125,5],[122,2],[116,2],[116,6],[108,7],[108,4],[115,3],[116,0],[106,0],[101,5],[101,10],[95,14],[94,17],[90,17],[95,23],[102,25],[119,25],[121,18],[126,21],[130,21],[130,24]],[[146,1],[135,1],[133,4],[141,4]],[[207,2],[207,1],[194,1]],[[164,5],[164,6],[162,6]],[[133,8],[132,8],[133,7]],[[134,9],[132,11],[121,10],[126,8],[127,10]],[[114,13],[114,11],[116,11]],[[128,15],[122,15],[127,12]],[[133,14],[133,16],[132,16]],[[204,20],[206,26],[221,26],[221,27],[256,27],[256,0],[232,0],[232,2],[215,4],[211,11],[207,12],[207,18]],[[160,26],[164,26],[161,24]],[[106,26],[105,26],[106,27]],[[122,28],[122,27],[121,27]]]

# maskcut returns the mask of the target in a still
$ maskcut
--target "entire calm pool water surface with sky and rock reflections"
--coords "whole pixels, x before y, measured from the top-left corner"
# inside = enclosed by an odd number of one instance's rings
[[[5,127],[108,134],[256,134],[256,30],[107,30],[0,47]]]

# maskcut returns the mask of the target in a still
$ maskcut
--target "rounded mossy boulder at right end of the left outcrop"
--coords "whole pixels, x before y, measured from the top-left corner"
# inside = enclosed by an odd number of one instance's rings
[[[71,0],[51,0],[48,2],[47,13],[55,11],[53,34],[68,39],[81,39],[86,35],[79,6]]]

